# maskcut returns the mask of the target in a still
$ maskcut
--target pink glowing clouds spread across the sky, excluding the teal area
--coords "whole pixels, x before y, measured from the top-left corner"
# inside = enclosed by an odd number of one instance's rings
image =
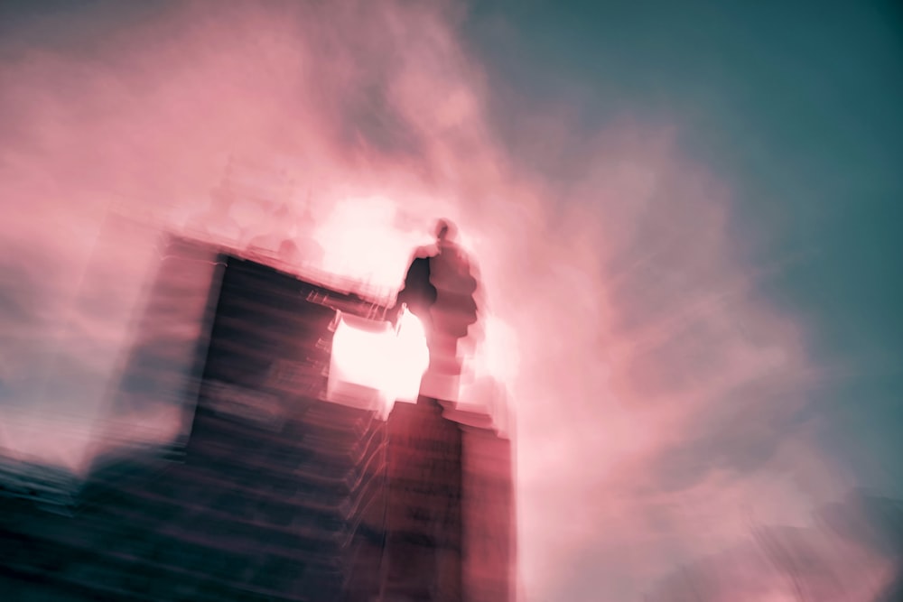
[[[795,578],[811,599],[870,599],[892,555],[821,531],[787,543],[848,483],[801,418],[818,366],[757,293],[731,191],[673,131],[629,120],[587,134],[524,114],[576,175],[527,171],[494,134],[465,8],[101,2],[5,35],[0,444],[49,463],[86,452],[158,234],[250,157],[293,181],[311,217],[297,236],[324,251],[313,267],[386,294],[433,218],[460,225],[514,400],[524,599],[677,599],[670,576],[715,574],[731,587],[710,579],[698,599],[792,599],[774,542],[821,563]],[[255,210],[236,209],[236,239],[280,227]],[[128,418],[178,430],[158,414]],[[757,534],[774,524],[796,531]]]

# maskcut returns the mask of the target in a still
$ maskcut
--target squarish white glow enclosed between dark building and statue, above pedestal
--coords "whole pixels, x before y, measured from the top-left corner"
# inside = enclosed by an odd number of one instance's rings
[[[397,330],[388,322],[340,314],[327,399],[387,414],[396,401],[416,402],[429,361],[424,327],[410,312],[402,312]]]

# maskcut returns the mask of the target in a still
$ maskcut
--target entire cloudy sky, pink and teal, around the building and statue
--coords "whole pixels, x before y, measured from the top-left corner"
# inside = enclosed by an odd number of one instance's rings
[[[523,600],[886,587],[857,492],[903,497],[898,6],[0,6],[8,453],[84,446],[156,224],[237,153],[298,182],[325,270],[391,289],[458,222],[514,338]]]

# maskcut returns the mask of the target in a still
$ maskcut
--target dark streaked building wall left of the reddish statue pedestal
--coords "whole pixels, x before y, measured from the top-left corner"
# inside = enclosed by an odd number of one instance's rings
[[[70,515],[0,501],[0,584],[14,599],[377,593],[386,425],[321,401],[334,310],[308,299],[329,295],[259,264],[225,265],[184,461],[102,463]]]

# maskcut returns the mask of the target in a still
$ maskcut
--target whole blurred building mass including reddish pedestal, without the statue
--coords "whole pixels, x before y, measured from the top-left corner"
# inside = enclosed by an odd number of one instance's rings
[[[184,428],[98,443],[77,488],[8,471],[3,599],[513,599],[512,451],[491,421],[327,398],[337,317],[384,307],[190,241],[161,266],[111,412],[169,404]],[[192,295],[203,315],[180,310]]]

